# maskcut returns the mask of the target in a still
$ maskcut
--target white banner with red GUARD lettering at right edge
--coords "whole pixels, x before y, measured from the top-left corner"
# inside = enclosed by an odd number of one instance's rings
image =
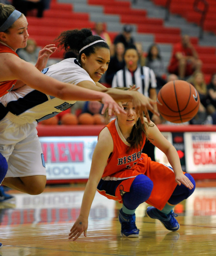
[[[216,132],[186,132],[184,139],[187,172],[216,172]]]

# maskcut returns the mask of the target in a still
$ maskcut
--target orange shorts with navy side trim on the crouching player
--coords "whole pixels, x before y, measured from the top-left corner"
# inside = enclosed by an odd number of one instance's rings
[[[130,170],[122,170],[110,177],[104,177],[98,185],[98,192],[109,199],[123,203],[122,196],[130,191],[131,184],[139,174],[145,174],[153,181],[153,190],[146,203],[162,210],[171,197],[177,183],[171,167],[151,161],[141,154],[139,162]]]

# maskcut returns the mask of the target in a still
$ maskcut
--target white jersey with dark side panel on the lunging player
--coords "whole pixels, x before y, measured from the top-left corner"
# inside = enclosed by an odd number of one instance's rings
[[[74,58],[47,67],[42,73],[58,81],[75,85],[83,81],[94,83]],[[49,119],[70,108],[76,101],[61,100],[25,85],[1,97],[0,102],[0,121],[6,117],[14,123],[25,124]]]

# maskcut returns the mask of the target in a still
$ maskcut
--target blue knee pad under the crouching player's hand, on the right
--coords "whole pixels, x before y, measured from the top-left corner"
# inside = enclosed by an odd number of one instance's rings
[[[186,173],[185,175],[193,183],[194,188],[189,189],[183,184],[181,184],[181,186],[177,185],[177,187],[175,188],[175,190],[172,193],[172,196],[168,200],[168,202],[170,204],[176,205],[176,204],[180,203],[181,201],[183,201],[184,199],[187,199],[191,194],[193,194],[195,187],[196,187],[195,180],[189,173]]]

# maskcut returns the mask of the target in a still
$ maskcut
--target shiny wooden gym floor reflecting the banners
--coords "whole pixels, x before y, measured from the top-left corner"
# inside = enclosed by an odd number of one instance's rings
[[[139,238],[120,237],[121,205],[95,196],[87,237],[69,241],[79,214],[84,186],[49,186],[30,196],[9,190],[13,201],[0,203],[0,256],[216,255],[216,182],[197,182],[187,201],[175,207],[180,229],[170,232],[146,217],[147,204],[136,211]]]

